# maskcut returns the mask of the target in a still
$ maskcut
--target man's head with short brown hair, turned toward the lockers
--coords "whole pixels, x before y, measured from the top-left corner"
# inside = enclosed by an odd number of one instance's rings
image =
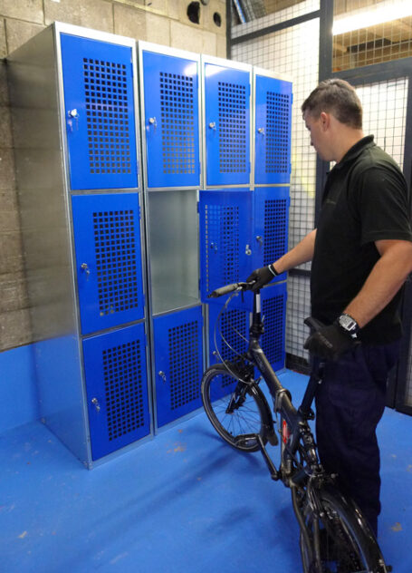
[[[302,103],[302,113],[311,132],[311,145],[322,160],[340,161],[363,137],[362,105],[344,80],[321,82]]]

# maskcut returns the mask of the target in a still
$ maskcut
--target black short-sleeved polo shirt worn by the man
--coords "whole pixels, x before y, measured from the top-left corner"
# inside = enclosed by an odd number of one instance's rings
[[[358,141],[331,170],[322,197],[311,264],[311,312],[331,324],[358,295],[378,261],[374,241],[412,241],[407,182],[397,163],[373,142]],[[399,292],[361,330],[367,344],[402,335]]]

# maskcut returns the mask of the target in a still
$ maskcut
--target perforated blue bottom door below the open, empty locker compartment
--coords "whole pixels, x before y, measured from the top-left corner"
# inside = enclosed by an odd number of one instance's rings
[[[200,306],[154,321],[158,427],[201,406],[203,317]]]

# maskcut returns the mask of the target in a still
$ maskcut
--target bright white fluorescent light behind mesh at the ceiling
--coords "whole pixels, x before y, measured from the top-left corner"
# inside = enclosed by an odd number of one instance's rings
[[[361,28],[369,28],[384,22],[391,22],[399,18],[406,18],[412,15],[412,2],[411,0],[400,0],[399,2],[376,5],[375,9],[371,10],[357,10],[351,12],[350,15],[344,15],[334,19],[332,34],[346,34],[353,30],[360,30]]]

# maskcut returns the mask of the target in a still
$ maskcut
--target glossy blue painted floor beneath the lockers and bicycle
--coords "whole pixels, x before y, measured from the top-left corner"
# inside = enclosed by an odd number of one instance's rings
[[[281,380],[297,402],[307,378]],[[379,542],[395,573],[412,571],[411,430],[387,409],[378,431]],[[0,456],[2,572],[302,571],[289,491],[204,413],[92,471],[40,422],[2,434]]]

